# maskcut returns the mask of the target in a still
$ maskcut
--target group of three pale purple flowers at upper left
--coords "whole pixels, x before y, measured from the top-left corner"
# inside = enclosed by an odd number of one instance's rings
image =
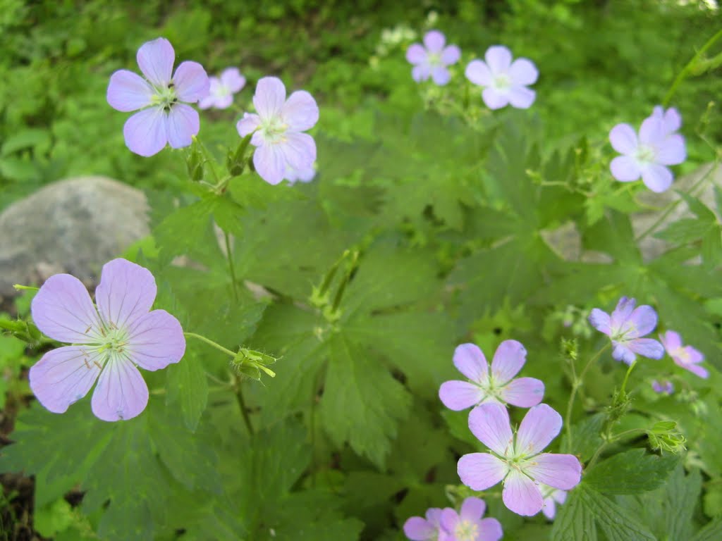
[[[107,99],[116,110],[139,111],[123,128],[126,145],[135,154],[153,156],[167,144],[174,149],[190,145],[200,129],[201,109],[226,109],[233,94],[245,86],[238,68],[208,77],[197,62],[186,61],[173,76],[175,51],[165,38],[144,43],[138,50],[138,66],[145,79],[121,69],[110,76]],[[308,182],[316,174],[316,143],[308,133],[318,121],[316,100],[305,91],[293,92],[276,77],[258,81],[253,95],[256,113],[245,113],[236,128],[241,137],[252,135],[253,167],[269,184]]]

